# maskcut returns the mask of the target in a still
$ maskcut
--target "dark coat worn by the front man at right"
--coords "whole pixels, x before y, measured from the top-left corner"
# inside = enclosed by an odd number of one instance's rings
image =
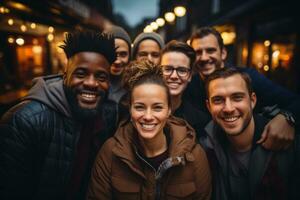
[[[300,199],[300,148],[299,137],[288,149],[272,152],[257,145],[256,141],[261,136],[267,120],[261,116],[255,116],[255,133],[248,166],[248,184],[251,200],[296,200]],[[239,187],[235,182],[229,184],[229,162],[225,153],[228,145],[225,133],[213,122],[207,127],[207,137],[201,141],[205,148],[213,175],[214,200],[234,199],[231,187]],[[221,139],[223,138],[223,139]]]

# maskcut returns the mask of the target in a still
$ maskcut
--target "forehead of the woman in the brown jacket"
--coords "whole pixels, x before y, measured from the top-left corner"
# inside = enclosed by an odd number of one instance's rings
[[[167,103],[167,91],[158,84],[144,83],[136,86],[132,91],[132,101],[143,102],[166,102]]]

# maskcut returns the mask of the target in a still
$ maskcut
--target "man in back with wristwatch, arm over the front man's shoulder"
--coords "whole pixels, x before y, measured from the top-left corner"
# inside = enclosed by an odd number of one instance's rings
[[[287,148],[294,139],[295,126],[299,126],[300,96],[276,85],[251,67],[225,65],[227,51],[223,39],[221,34],[212,27],[202,27],[195,31],[190,38],[190,43],[197,54],[195,65],[198,73],[193,76],[185,98],[189,99],[195,107],[208,112],[205,106],[205,79],[220,68],[239,69],[252,79],[253,88],[259,98],[256,112],[264,112],[265,108],[276,105],[280,108],[265,112],[271,113],[272,120],[266,125],[258,143],[267,149]]]

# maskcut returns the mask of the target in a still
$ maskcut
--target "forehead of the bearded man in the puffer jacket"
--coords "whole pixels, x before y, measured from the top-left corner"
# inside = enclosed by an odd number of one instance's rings
[[[80,52],[72,56],[69,61],[69,71],[74,71],[78,67],[90,68],[93,70],[109,71],[110,64],[100,53]]]

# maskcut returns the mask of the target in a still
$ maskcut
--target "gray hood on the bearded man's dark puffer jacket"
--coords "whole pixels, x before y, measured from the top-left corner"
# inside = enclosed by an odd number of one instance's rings
[[[63,89],[62,75],[50,75],[33,79],[33,87],[23,100],[36,100],[67,117],[72,116]]]

